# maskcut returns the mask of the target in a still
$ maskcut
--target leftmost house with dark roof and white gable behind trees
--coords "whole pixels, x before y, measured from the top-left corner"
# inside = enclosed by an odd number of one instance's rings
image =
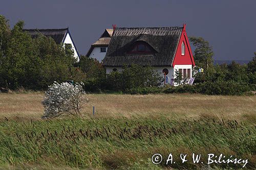
[[[77,59],[77,62],[80,60],[80,55],[76,48],[75,42],[70,34],[69,28],[65,29],[24,29],[23,31],[28,32],[32,38],[38,36],[38,34],[45,35],[47,37],[53,38],[56,44],[70,44],[74,51],[74,57]]]

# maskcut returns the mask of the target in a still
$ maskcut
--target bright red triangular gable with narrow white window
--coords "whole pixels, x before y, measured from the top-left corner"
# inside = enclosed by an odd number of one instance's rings
[[[185,26],[186,27],[186,26]],[[175,53],[175,57],[173,60],[173,67],[175,65],[193,65],[195,66],[195,61],[193,57],[193,53],[191,51],[191,47],[189,45],[189,40],[186,35],[185,27],[181,33],[181,37],[179,40],[179,44]],[[181,44],[182,42],[185,43],[185,55],[181,55]]]

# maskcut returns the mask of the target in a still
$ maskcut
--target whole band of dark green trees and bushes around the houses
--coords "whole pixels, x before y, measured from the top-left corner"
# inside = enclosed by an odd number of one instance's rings
[[[23,31],[24,21],[11,29],[0,15],[0,87],[16,90],[45,90],[56,82],[83,82],[88,92],[157,93],[198,92],[205,94],[243,94],[256,91],[256,53],[248,64],[214,65],[212,47],[201,37],[190,37],[196,49],[193,69],[195,84],[162,87],[161,76],[154,68],[124,66],[121,72],[106,75],[102,63],[81,56],[79,63],[70,46],[56,44],[52,38],[39,35],[32,39]],[[204,68],[204,72],[197,72]]]

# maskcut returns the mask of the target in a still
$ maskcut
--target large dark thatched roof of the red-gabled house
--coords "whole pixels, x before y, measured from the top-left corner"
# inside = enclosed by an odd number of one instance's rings
[[[103,60],[104,66],[151,65],[171,66],[183,27],[116,28]],[[144,41],[154,54],[129,54],[131,46]]]

